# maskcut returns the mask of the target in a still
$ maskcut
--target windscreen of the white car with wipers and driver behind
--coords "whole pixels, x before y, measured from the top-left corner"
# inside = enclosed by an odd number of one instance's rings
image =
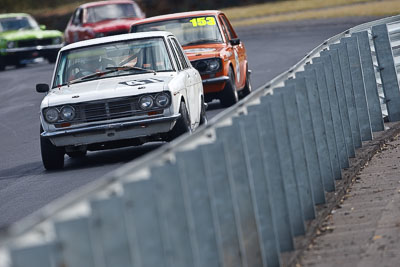
[[[172,70],[162,37],[99,44],[63,51],[57,64],[53,88],[81,78],[79,82]]]

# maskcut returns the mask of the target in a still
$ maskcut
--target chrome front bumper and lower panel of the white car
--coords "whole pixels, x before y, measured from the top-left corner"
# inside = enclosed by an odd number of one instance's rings
[[[41,136],[49,138],[55,146],[88,145],[132,139],[168,132],[180,116],[180,114],[176,114],[169,117],[115,122],[58,131],[44,131],[41,133]]]

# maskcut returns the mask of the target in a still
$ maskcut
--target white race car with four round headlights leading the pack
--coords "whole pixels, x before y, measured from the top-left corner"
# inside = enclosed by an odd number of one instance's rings
[[[168,32],[77,42],[60,50],[40,106],[46,169],[64,155],[169,141],[206,122],[200,74]]]

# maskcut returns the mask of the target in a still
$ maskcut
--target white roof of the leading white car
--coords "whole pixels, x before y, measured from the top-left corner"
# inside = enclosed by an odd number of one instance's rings
[[[125,41],[125,40],[132,40],[132,39],[141,39],[146,37],[167,37],[173,35],[170,32],[165,31],[152,31],[152,32],[139,32],[139,33],[126,33],[120,35],[113,35],[95,39],[89,39],[85,41],[80,41],[76,43],[69,44],[61,48],[61,51],[71,50],[80,47],[87,47],[97,44],[105,44],[105,43],[112,43],[116,41]]]

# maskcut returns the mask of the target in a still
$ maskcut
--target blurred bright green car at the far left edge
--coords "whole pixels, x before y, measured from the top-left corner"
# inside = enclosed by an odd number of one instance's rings
[[[60,31],[46,30],[28,14],[0,14],[0,70],[6,66],[24,66],[37,57],[50,63],[63,46]]]

